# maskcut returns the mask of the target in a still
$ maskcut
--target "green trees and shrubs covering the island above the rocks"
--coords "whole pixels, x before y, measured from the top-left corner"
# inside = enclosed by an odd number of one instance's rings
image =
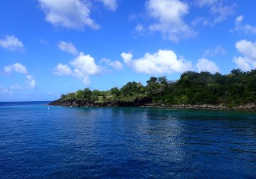
[[[122,88],[91,91],[89,88],[61,95],[60,100],[86,100],[95,103],[134,102],[150,99],[159,104],[225,104],[227,107],[256,102],[256,70],[232,70],[228,75],[185,72],[178,81],[150,77],[147,85],[128,82]]]

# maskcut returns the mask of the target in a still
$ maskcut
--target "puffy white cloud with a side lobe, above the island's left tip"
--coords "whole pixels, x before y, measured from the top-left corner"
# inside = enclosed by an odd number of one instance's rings
[[[98,75],[102,73],[102,67],[95,63],[95,59],[90,55],[86,55],[80,52],[74,61],[71,61],[70,65],[73,66],[74,70],[68,65],[59,63],[54,68],[53,74],[55,75],[71,75],[79,78],[84,84],[90,84],[90,75]]]

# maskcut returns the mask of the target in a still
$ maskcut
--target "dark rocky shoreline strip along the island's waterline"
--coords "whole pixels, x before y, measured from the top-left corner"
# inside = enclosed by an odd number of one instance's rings
[[[239,105],[236,107],[227,107],[223,104],[212,105],[212,104],[203,104],[203,105],[166,105],[166,104],[157,104],[150,102],[150,99],[143,100],[134,100],[134,102],[103,102],[95,103],[88,102],[86,100],[55,100],[49,105],[61,105],[65,107],[166,107],[166,108],[177,108],[177,109],[212,109],[212,110],[234,110],[234,111],[256,111],[256,105],[254,103],[248,103],[244,105]]]

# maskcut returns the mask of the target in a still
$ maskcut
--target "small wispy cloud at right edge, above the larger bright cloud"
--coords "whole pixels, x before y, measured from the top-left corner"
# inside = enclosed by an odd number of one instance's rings
[[[256,26],[251,26],[249,24],[242,24],[244,20],[243,15],[239,15],[235,20],[235,31],[241,31],[243,33],[256,34]]]

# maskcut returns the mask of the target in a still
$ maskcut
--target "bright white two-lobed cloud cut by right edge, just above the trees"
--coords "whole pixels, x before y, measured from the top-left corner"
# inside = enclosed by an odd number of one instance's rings
[[[236,42],[236,49],[243,56],[234,57],[233,61],[237,68],[243,71],[249,71],[256,68],[256,42],[241,40]]]

